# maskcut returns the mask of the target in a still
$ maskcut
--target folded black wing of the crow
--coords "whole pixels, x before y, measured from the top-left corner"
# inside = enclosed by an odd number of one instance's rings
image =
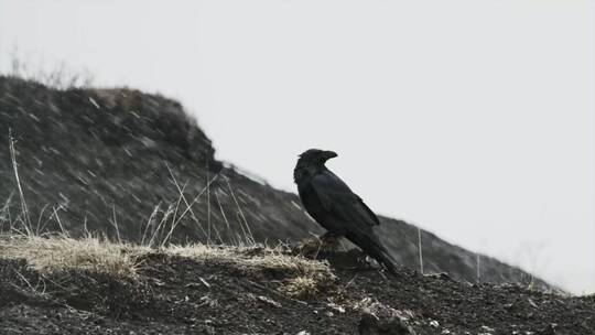
[[[346,223],[365,223],[368,226],[380,224],[376,214],[333,172],[327,170],[318,173],[311,183],[324,209]]]

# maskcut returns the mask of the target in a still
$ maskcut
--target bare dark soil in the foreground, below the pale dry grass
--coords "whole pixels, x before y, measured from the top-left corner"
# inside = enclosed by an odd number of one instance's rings
[[[0,260],[0,334],[408,334],[365,329],[363,320],[383,322],[361,307],[374,302],[407,315],[415,334],[595,334],[593,298],[409,269],[393,277],[354,261],[356,251],[325,257],[336,280],[302,299],[281,290],[295,273],[160,253],[142,259],[134,279],[41,275]]]

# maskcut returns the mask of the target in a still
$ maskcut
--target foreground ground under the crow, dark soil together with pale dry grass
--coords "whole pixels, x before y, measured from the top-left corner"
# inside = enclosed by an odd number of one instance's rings
[[[3,238],[0,333],[595,334],[593,296],[408,269],[393,277],[357,261],[356,250],[324,258],[283,248]]]

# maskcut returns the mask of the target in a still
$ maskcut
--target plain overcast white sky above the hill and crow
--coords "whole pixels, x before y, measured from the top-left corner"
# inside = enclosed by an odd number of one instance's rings
[[[0,68],[180,99],[217,156],[296,154],[381,214],[595,291],[595,1],[0,0]]]

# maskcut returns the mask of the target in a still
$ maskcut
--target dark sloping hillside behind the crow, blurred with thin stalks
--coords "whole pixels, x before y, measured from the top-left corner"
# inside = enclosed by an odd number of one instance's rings
[[[295,194],[216,161],[196,121],[161,96],[132,89],[56,90],[0,76],[0,143],[2,231],[20,219],[32,230],[102,231],[113,239],[164,245],[295,242],[322,233]],[[381,220],[389,250],[402,264],[419,268],[416,227]],[[422,240],[426,272],[477,281],[475,252],[426,231]],[[479,275],[482,282],[548,287],[486,256],[480,256]]]

